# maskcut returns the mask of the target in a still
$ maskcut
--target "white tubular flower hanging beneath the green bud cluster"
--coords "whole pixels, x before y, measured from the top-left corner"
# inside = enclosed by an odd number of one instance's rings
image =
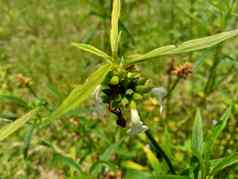
[[[127,133],[133,136],[146,130],[148,130],[148,127],[143,125],[137,109],[131,109],[131,127],[128,129]]]

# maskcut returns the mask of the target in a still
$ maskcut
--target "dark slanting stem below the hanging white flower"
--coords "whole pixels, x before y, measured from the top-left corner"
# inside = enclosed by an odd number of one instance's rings
[[[161,158],[164,158],[166,164],[169,167],[169,170],[171,172],[171,174],[176,174],[174,167],[172,165],[172,162],[170,161],[169,157],[166,155],[166,153],[164,152],[164,150],[160,147],[160,145],[156,142],[156,140],[154,139],[154,137],[152,136],[152,134],[147,130],[145,132],[146,136],[148,137],[149,141],[150,141],[150,145],[153,147],[155,153],[156,153],[156,157],[158,158],[158,160],[160,160]]]

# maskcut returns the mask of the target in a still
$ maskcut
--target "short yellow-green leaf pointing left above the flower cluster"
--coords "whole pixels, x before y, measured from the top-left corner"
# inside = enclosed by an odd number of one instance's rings
[[[94,54],[98,57],[101,57],[104,60],[106,60],[106,62],[111,63],[111,61],[112,61],[112,57],[110,57],[108,54],[106,54],[105,52],[97,49],[96,47],[94,47],[92,45],[82,44],[82,43],[72,43],[72,46],[77,47],[80,50],[92,53],[92,54]]]

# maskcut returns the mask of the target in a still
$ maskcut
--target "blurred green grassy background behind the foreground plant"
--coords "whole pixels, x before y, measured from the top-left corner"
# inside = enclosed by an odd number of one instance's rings
[[[122,2],[121,55],[237,28],[236,0]],[[109,52],[110,14],[110,0],[0,1],[1,126],[29,110],[23,103],[37,103],[29,89],[19,84],[20,74],[32,81],[37,96],[48,101],[53,109],[75,85],[83,83],[95,71],[100,59],[72,47],[71,43],[90,43]],[[145,123],[167,151],[176,170],[188,166],[191,126],[197,107],[209,131],[229,104],[235,104],[214,158],[237,150],[237,48],[236,38],[211,49],[140,64],[155,86],[165,88],[176,81],[168,73],[171,64],[193,64],[192,75],[179,81],[162,115],[153,101],[140,106]],[[123,133],[116,126],[114,116],[105,106],[97,107],[92,97],[48,129],[35,132],[26,126],[1,142],[0,179],[74,178],[80,174],[83,178],[83,173],[106,179],[120,179],[122,175],[143,178],[155,172],[155,159],[151,159],[151,151],[144,147],[148,143],[145,136],[126,137],[122,141]],[[102,166],[106,166],[103,174]],[[236,166],[217,178],[235,179],[237,173]]]

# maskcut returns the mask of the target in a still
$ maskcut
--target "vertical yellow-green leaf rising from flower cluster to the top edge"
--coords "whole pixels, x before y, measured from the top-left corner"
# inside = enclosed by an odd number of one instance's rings
[[[116,57],[118,52],[118,43],[119,43],[118,22],[120,18],[120,11],[121,11],[121,1],[113,0],[111,34],[110,34],[111,50],[113,57]]]

